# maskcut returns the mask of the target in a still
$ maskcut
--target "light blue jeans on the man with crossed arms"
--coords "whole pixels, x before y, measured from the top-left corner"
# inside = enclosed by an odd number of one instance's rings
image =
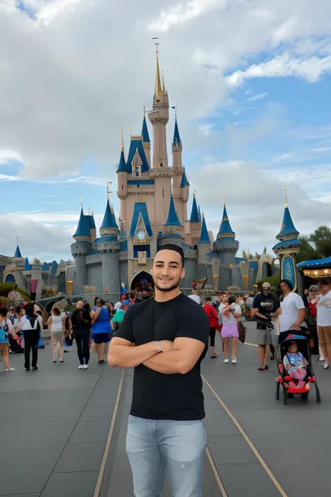
[[[129,416],[126,452],[135,497],[161,497],[165,471],[172,497],[203,496],[205,421]]]

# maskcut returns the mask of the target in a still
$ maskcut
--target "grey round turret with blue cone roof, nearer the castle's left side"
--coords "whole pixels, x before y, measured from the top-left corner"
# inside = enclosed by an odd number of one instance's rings
[[[108,287],[111,294],[119,293],[119,227],[115,219],[114,209],[109,199],[105,206],[105,215],[100,228],[100,238],[94,245],[101,253],[102,261],[102,289]]]

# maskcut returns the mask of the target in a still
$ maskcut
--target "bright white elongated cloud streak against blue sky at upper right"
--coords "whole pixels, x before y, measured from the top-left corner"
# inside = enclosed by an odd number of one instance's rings
[[[295,76],[309,82],[316,82],[321,75],[329,72],[331,72],[331,56],[320,58],[313,55],[309,59],[293,59],[289,54],[283,54],[268,62],[253,64],[245,71],[235,71],[226,78],[226,81],[230,87],[240,86],[245,80],[251,78]]]

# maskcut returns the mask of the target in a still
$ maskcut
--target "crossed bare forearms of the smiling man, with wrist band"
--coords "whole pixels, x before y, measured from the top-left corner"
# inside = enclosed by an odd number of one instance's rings
[[[134,368],[144,364],[159,373],[185,375],[196,365],[205,348],[200,340],[186,337],[175,338],[174,342],[161,340],[163,352],[159,352],[156,342],[131,345],[134,344],[129,340],[113,337],[108,350],[110,366]]]

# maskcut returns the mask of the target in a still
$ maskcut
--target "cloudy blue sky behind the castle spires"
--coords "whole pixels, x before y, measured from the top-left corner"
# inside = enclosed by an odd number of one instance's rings
[[[330,17],[330,0],[2,0],[0,254],[18,236],[24,257],[71,257],[80,194],[99,226],[107,180],[118,213],[121,127],[128,150],[153,36],[208,229],[225,195],[239,254],[270,252],[284,188],[301,233],[330,225]]]

